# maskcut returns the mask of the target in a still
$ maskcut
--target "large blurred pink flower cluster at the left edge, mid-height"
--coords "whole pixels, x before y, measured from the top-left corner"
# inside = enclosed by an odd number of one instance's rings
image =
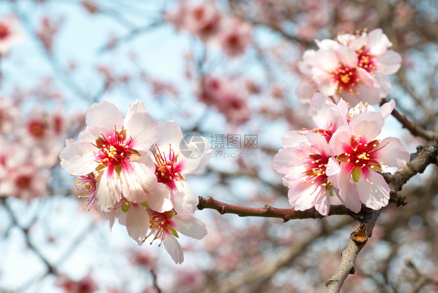
[[[61,116],[56,110],[31,106],[18,97],[0,95],[0,197],[15,197],[25,201],[50,194],[50,169],[59,164],[58,155],[64,147],[69,124],[76,117]],[[44,110],[43,110],[44,108]]]

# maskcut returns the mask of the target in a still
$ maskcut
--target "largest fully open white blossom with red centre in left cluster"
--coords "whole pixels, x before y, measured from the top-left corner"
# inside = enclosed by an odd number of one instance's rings
[[[172,209],[170,190],[158,183],[155,166],[147,154],[156,139],[156,121],[141,101],[126,117],[107,101],[94,103],[86,116],[87,128],[79,141],[67,140],[61,166],[76,176],[97,171],[96,200],[102,211],[111,211],[123,200],[146,202],[158,211]]]

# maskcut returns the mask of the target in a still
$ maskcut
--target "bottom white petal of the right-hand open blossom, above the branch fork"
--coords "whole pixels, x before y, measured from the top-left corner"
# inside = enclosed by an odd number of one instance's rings
[[[386,206],[390,197],[390,188],[385,178],[376,172],[368,172],[367,179],[373,184],[367,182],[365,176],[361,176],[356,183],[361,201],[372,209]]]

